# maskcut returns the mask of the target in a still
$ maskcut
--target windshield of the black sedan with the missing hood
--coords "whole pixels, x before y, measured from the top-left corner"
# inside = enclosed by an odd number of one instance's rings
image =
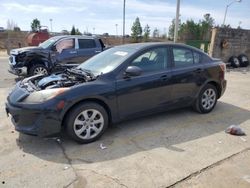
[[[117,68],[135,50],[131,48],[110,48],[80,64],[78,69],[86,69],[95,75],[105,74]]]

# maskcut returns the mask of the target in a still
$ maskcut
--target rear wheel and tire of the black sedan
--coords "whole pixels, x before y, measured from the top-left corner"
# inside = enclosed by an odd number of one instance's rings
[[[193,107],[201,114],[209,113],[214,109],[217,99],[218,91],[216,87],[214,85],[207,84],[201,89]]]

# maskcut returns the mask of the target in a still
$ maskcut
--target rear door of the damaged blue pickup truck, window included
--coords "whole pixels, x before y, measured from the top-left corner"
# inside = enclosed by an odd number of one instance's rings
[[[77,62],[82,63],[102,51],[101,45],[95,39],[78,39]]]

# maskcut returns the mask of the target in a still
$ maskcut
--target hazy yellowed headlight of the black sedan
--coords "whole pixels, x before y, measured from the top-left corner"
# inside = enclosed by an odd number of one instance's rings
[[[69,90],[69,88],[56,88],[56,89],[47,89],[47,90],[33,92],[28,97],[26,97],[22,102],[42,103],[64,93],[67,90]]]

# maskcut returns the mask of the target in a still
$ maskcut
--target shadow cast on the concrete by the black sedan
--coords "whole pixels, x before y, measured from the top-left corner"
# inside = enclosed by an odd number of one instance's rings
[[[16,142],[25,153],[44,160],[65,163],[66,157],[74,164],[95,163],[156,148],[183,152],[176,145],[224,131],[249,117],[248,110],[218,102],[209,114],[201,115],[186,108],[125,121],[109,128],[98,141],[85,145],[77,144],[65,134],[54,139],[19,134]],[[61,147],[64,156],[51,149],[55,145]]]

